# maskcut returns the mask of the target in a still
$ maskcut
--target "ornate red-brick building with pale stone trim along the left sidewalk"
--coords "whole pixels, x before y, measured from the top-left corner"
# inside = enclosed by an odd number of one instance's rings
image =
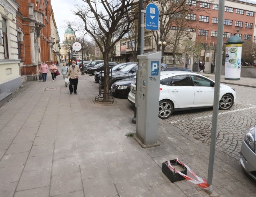
[[[17,36],[21,79],[23,82],[37,80],[38,65],[42,61],[50,64],[53,60],[52,46],[56,43],[56,37],[51,35],[51,0],[16,2],[20,5],[17,12]]]

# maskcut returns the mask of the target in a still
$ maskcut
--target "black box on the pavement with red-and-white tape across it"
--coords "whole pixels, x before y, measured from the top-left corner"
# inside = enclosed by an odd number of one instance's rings
[[[181,173],[187,175],[188,169],[187,169],[184,165],[182,165],[182,164],[176,162],[176,160],[170,160],[170,163],[171,163],[171,165],[172,165],[172,167],[173,167],[174,169],[176,169],[177,171],[180,171]],[[181,170],[182,170],[182,171],[181,171]],[[166,163],[166,162],[164,162],[164,163],[162,164],[162,173],[164,173],[164,174],[166,175],[166,177],[167,177],[172,183],[173,183],[173,182],[176,182],[176,181],[182,181],[182,180],[185,179],[185,178],[184,178],[182,175],[180,175],[179,173],[176,173],[175,171],[172,171],[172,170],[167,166],[167,163]]]

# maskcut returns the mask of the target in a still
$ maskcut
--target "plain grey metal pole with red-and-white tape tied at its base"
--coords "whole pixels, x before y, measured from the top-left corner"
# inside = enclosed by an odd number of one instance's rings
[[[217,136],[218,125],[218,110],[220,99],[220,76],[222,65],[222,45],[223,45],[223,22],[224,22],[224,7],[225,0],[219,0],[219,14],[218,14],[218,38],[217,38],[217,61],[216,61],[216,73],[215,73],[215,85],[214,85],[214,103],[212,112],[212,130],[211,130],[211,144],[210,144],[210,156],[208,167],[208,185],[210,185],[208,191],[212,193],[212,177],[214,169],[214,155]]]

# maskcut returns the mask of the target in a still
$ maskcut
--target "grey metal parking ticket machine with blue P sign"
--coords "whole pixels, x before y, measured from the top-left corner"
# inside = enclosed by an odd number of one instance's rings
[[[161,52],[138,55],[136,135],[143,144],[157,142]]]

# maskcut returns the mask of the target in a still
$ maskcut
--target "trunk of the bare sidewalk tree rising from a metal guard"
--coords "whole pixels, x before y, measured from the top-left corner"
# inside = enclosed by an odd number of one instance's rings
[[[103,88],[103,102],[110,101],[109,98],[109,66],[108,66],[108,50],[105,50],[103,53],[103,60],[104,60],[104,88]]]

